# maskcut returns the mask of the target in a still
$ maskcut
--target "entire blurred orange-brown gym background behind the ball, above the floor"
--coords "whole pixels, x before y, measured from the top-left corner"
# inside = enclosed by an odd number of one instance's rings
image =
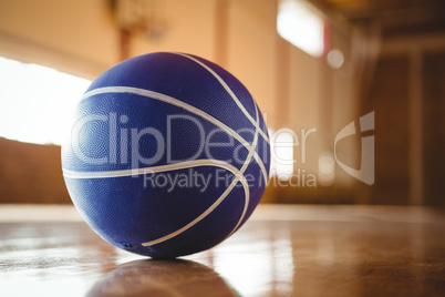
[[[0,203],[71,203],[70,110],[154,51],[208,59],[251,92],[288,161],[262,203],[445,206],[441,0],[0,0]],[[368,182],[344,171],[364,164]]]

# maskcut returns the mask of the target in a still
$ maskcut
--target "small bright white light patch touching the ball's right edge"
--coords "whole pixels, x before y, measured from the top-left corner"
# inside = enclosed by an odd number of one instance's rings
[[[293,173],[294,133],[290,129],[273,131],[269,129],[270,137],[270,176],[289,180]]]

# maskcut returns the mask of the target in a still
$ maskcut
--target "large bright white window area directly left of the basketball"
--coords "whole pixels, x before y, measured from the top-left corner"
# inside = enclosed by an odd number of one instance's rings
[[[91,81],[0,58],[0,136],[61,144],[75,104]]]

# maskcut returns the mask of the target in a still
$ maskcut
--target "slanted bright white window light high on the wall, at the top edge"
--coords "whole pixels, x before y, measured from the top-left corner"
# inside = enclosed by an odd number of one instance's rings
[[[324,22],[306,1],[279,1],[277,31],[283,39],[313,57],[324,52]]]

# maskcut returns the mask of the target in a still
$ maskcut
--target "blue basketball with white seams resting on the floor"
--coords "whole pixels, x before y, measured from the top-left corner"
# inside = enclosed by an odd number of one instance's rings
[[[265,191],[269,151],[261,112],[235,76],[195,55],[156,52],[90,85],[62,167],[75,207],[102,238],[173,258],[242,226]]]

